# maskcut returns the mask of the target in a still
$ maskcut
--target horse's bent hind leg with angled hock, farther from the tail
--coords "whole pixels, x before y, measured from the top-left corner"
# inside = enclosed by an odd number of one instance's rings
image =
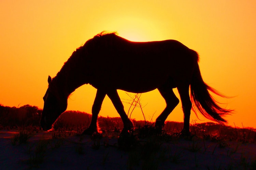
[[[163,85],[158,88],[160,94],[165,99],[166,108],[163,112],[157,117],[155,127],[161,131],[165,125],[165,120],[173,111],[173,109],[179,104],[179,99],[175,96],[171,86]]]

